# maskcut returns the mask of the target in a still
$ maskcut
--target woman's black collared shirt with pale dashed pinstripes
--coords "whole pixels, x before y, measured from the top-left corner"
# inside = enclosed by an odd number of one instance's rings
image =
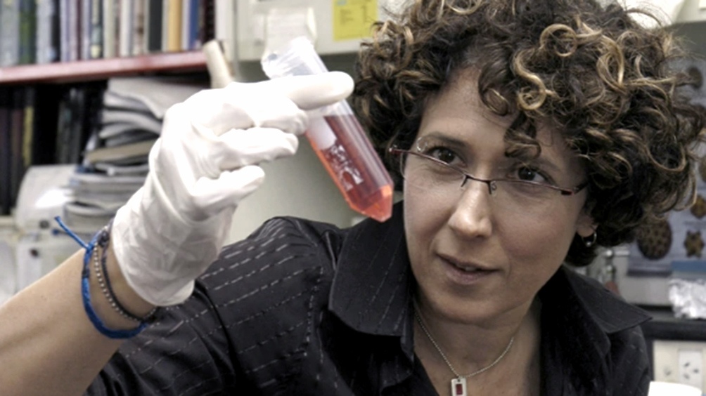
[[[340,230],[275,218],[119,349],[90,395],[436,395],[412,342],[395,205]],[[561,268],[540,290],[542,395],[647,395],[648,316]]]

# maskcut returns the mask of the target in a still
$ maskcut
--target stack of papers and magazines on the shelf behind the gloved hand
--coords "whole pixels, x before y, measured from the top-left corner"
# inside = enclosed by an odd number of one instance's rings
[[[145,182],[148,154],[160,137],[164,113],[203,88],[208,88],[208,80],[109,80],[100,128],[86,145],[83,166],[71,177],[66,225],[77,232],[95,232],[106,224]]]

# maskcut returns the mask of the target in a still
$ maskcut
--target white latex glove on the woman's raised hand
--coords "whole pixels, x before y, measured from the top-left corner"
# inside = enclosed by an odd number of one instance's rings
[[[234,82],[172,106],[145,185],[119,209],[112,246],[128,284],[158,305],[183,302],[216,259],[238,202],[262,184],[258,163],[297,151],[304,110],[345,99],[349,75]]]

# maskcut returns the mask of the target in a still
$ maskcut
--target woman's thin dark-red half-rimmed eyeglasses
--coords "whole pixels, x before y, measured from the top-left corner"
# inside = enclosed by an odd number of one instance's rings
[[[444,161],[422,151],[388,149],[400,159],[400,173],[407,185],[429,190],[442,197],[459,198],[468,180],[482,182],[488,186],[499,209],[517,214],[543,215],[551,211],[557,197],[570,197],[583,190],[588,182],[573,188],[558,187],[549,182],[537,182],[522,178],[481,179],[471,175],[450,161]],[[427,150],[433,152],[433,150]],[[450,151],[453,154],[453,151]],[[435,153],[436,154],[436,153]],[[444,158],[449,159],[449,158]],[[522,168],[519,173],[533,175],[532,168]]]

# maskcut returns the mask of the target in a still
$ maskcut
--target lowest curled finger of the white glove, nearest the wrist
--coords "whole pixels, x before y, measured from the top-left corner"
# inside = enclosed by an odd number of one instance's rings
[[[199,178],[189,191],[193,204],[208,218],[223,209],[235,208],[241,199],[252,194],[265,180],[265,171],[255,165],[223,172],[217,179]]]

